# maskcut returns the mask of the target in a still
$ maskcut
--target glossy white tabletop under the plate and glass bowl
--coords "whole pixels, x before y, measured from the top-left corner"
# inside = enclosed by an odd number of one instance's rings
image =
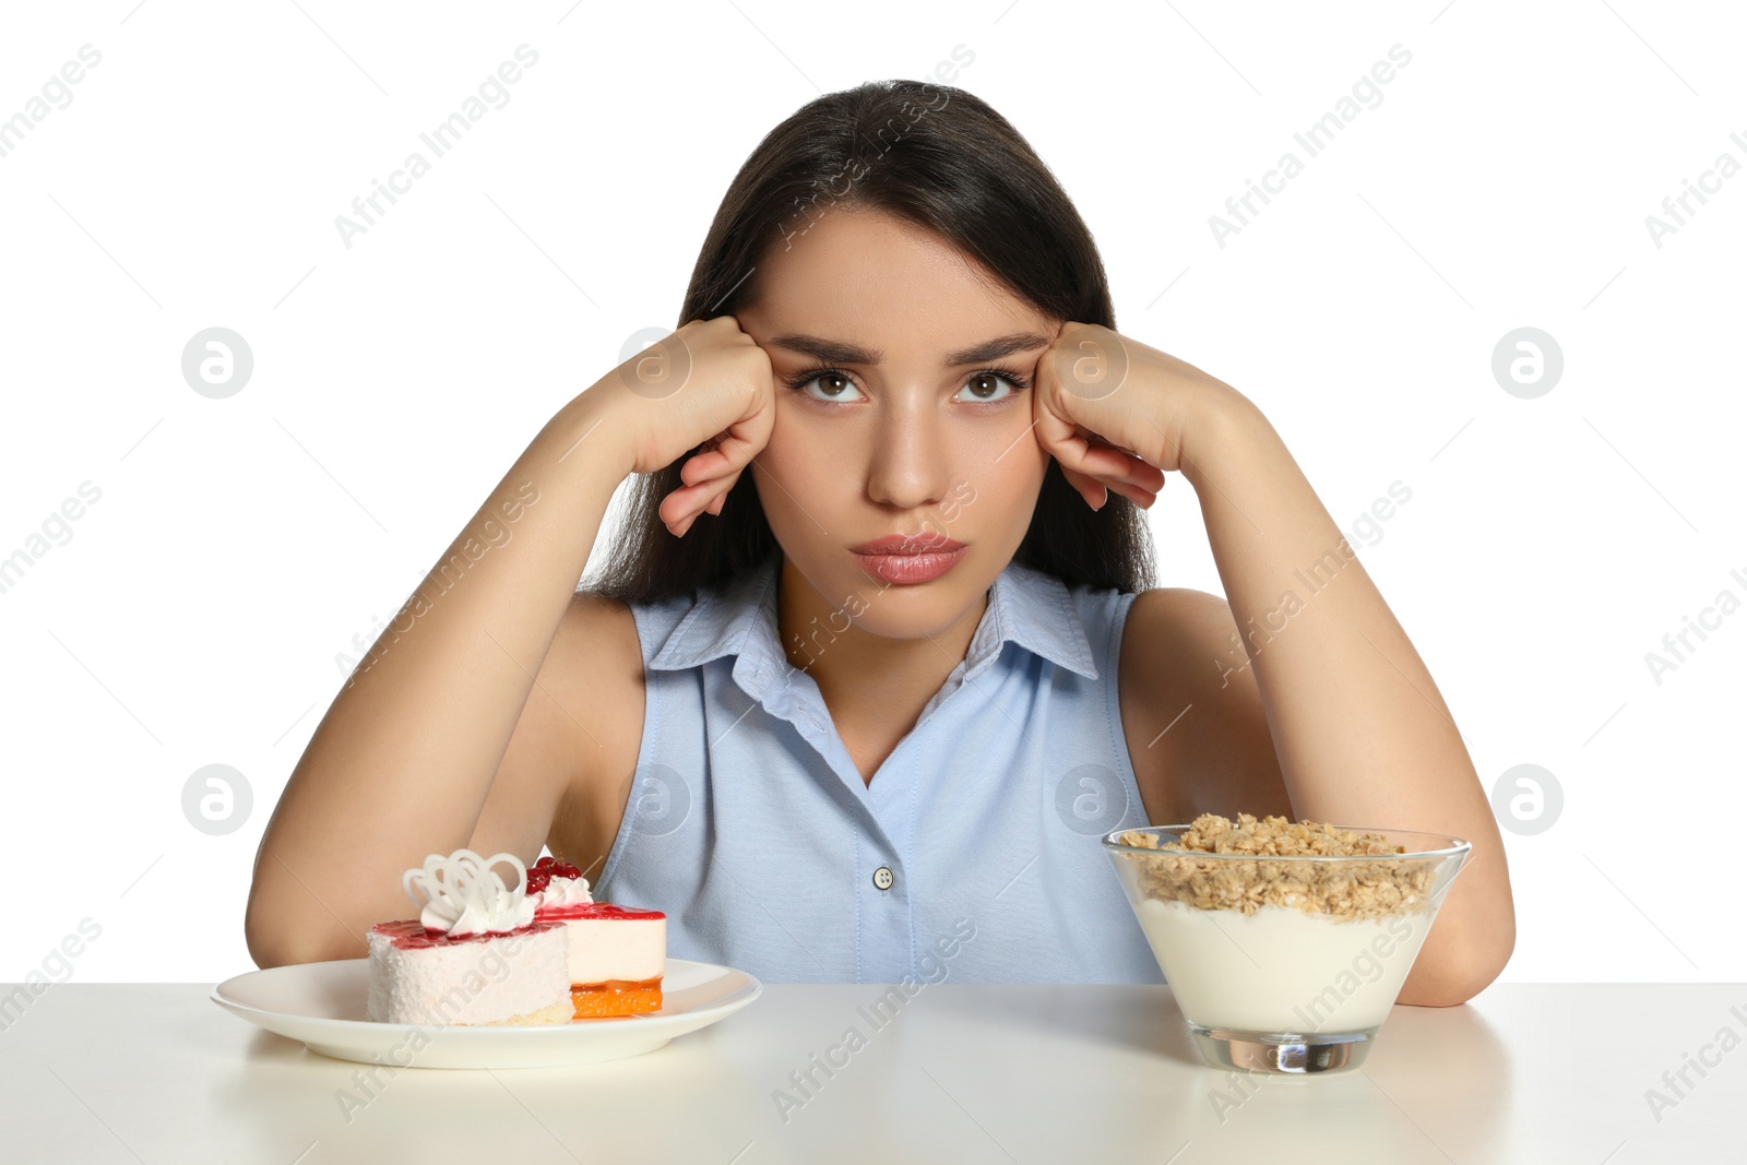
[[[384,1072],[349,1123],[337,1093],[363,1065],[262,1032],[210,990],[66,983],[7,1017],[0,1162],[1747,1160],[1747,1044],[1709,1051],[1705,1078],[1688,1069],[1696,1086],[1660,1121],[1646,1102],[1723,1027],[1747,1037],[1740,983],[1494,985],[1460,1008],[1396,1008],[1359,1071],[1242,1086],[1202,1064],[1169,987],[947,982],[875,1031],[858,1008],[880,987],[767,983],[629,1060]],[[821,1086],[784,1121],[776,1090],[802,1099],[790,1072],[849,1025],[867,1044],[832,1078],[814,1069]]]

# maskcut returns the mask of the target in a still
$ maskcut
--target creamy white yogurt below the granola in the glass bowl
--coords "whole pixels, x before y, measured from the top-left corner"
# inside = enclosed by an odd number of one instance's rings
[[[1303,1036],[1380,1027],[1434,915],[1354,920],[1279,905],[1246,915],[1158,898],[1136,913],[1190,1024]]]

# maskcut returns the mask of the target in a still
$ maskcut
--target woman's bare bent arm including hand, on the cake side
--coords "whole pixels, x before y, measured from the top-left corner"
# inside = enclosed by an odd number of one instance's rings
[[[566,789],[599,776],[589,760],[606,734],[575,716],[604,716],[610,700],[554,714],[547,699],[524,713],[535,683],[549,697],[573,686],[557,683],[547,655],[561,625],[589,634],[577,582],[613,491],[708,440],[660,514],[669,529],[718,514],[770,437],[772,402],[770,358],[734,316],[716,316],[631,356],[547,421],[297,762],[255,856],[245,933],[257,964],[362,955],[372,924],[407,915],[402,873],[470,845],[493,796],[508,824],[491,835],[510,835],[503,849],[533,861]],[[590,658],[554,667],[604,683]]]

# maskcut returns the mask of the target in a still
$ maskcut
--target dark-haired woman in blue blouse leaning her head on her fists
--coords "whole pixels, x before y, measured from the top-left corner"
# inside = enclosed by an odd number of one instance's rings
[[[545,844],[767,980],[1160,982],[1099,835],[1251,812],[1469,838],[1401,1003],[1492,982],[1504,852],[1431,676],[1254,403],[1115,332],[994,110],[798,110],[680,323],[547,423],[328,709],[257,858],[260,966],[362,954],[432,851]],[[1151,587],[1167,472],[1228,601]]]

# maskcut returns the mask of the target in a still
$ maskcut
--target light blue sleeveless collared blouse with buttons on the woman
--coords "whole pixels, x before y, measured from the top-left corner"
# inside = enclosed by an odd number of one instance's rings
[[[777,639],[779,566],[631,606],[643,744],[596,898],[772,983],[1165,982],[1099,844],[1146,824],[1116,704],[1136,596],[1010,562],[865,784]]]

